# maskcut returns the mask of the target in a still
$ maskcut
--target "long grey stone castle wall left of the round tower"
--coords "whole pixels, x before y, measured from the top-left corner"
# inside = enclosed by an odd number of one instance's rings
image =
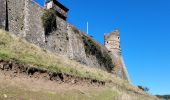
[[[86,55],[82,40],[82,36],[85,34],[76,27],[56,17],[56,31],[46,36],[41,20],[44,8],[32,0],[7,0],[8,9],[6,10],[5,1],[0,1],[0,12],[2,13],[0,14],[0,28],[4,29],[7,25],[5,22],[8,22],[7,27],[11,33],[25,38],[41,48],[67,56],[90,67],[106,70],[94,55]],[[8,11],[7,14],[6,11]]]

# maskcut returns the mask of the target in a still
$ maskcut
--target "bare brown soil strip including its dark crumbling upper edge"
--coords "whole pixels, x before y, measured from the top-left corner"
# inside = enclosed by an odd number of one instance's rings
[[[62,92],[73,89],[85,91],[102,89],[103,81],[76,77],[63,73],[48,72],[33,65],[18,64],[11,61],[0,61],[0,84],[29,88],[34,91]]]

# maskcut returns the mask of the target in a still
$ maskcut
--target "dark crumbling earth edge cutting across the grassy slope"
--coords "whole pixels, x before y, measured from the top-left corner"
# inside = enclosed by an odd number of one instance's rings
[[[72,83],[72,84],[89,84],[96,86],[104,86],[104,81],[90,79],[86,77],[78,77],[60,72],[52,72],[46,69],[38,68],[34,65],[19,64],[15,61],[0,60],[0,70],[10,72],[13,77],[17,74],[26,74],[29,77],[44,78],[51,81]]]

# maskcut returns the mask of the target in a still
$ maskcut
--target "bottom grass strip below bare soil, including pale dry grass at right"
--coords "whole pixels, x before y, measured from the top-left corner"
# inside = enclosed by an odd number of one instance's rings
[[[5,96],[6,97],[5,97]],[[28,87],[0,84],[0,100],[158,100],[156,97],[117,92],[112,88],[89,88],[88,90],[30,90]]]

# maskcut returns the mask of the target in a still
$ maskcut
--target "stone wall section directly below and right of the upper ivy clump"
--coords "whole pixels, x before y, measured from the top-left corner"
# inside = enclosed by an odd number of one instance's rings
[[[58,17],[56,18],[56,21],[57,29],[46,36],[45,47],[52,52],[67,55],[67,48],[69,44],[67,23]]]

